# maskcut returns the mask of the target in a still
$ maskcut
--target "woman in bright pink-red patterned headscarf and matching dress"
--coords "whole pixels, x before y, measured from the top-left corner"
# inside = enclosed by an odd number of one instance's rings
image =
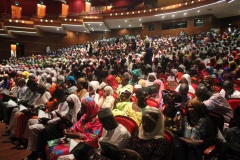
[[[100,110],[99,106],[89,97],[83,98],[81,104],[83,116],[71,128],[63,130],[62,127],[49,126],[39,134],[37,153],[40,159],[46,159],[44,150],[49,140],[61,138],[65,135],[67,138],[79,139],[88,143],[101,136],[102,124],[97,117]],[[69,154],[69,145],[60,144],[52,146],[49,150],[51,151],[50,158],[57,159],[61,155]]]

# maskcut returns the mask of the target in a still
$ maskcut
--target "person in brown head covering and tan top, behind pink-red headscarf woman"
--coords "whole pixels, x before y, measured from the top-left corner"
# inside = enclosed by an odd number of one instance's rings
[[[77,89],[74,91],[74,94],[76,94],[81,101],[82,98],[89,97],[87,89],[87,81],[84,78],[79,78],[77,80]]]

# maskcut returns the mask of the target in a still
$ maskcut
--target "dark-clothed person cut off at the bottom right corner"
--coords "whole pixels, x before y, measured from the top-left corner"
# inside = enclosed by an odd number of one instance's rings
[[[228,128],[225,134],[225,142],[221,144],[219,160],[239,159],[240,157],[240,106],[234,110],[235,127]]]

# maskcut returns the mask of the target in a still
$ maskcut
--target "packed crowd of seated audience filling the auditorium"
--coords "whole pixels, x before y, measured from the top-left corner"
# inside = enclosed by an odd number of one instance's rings
[[[240,99],[239,65],[236,29],[125,35],[3,60],[2,143],[32,151],[29,160],[200,160],[209,146],[215,159],[239,159],[240,106],[229,103]]]

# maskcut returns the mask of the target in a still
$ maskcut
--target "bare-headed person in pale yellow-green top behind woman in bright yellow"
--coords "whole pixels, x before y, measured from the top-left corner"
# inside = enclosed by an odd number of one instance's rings
[[[125,72],[123,74],[122,82],[116,90],[118,97],[120,97],[121,93],[125,90],[129,91],[132,94],[133,86],[131,84],[129,84],[129,80],[130,80],[130,75],[129,75],[129,73]]]

